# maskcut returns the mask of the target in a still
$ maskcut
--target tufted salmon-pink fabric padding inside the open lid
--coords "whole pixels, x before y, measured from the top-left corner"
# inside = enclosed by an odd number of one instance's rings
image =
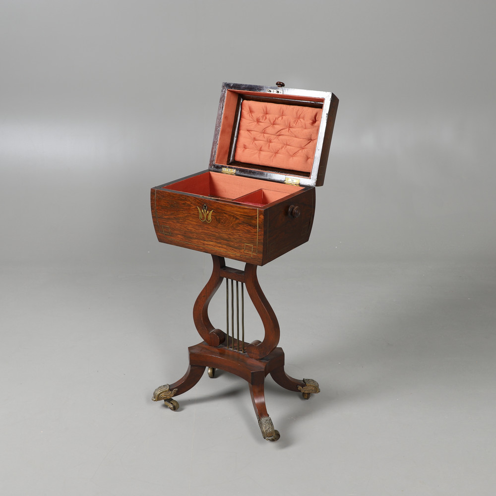
[[[244,100],[235,160],[311,172],[321,109]]]

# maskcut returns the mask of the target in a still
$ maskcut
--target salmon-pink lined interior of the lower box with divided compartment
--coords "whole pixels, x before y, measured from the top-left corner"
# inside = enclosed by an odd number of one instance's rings
[[[267,205],[303,189],[302,186],[273,182],[270,183],[270,189],[268,189],[267,183],[262,179],[232,176],[218,172],[204,172],[164,186],[163,189],[258,206]]]

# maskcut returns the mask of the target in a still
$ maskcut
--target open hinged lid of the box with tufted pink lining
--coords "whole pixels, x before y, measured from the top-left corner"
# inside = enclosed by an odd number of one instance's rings
[[[321,186],[338,99],[325,91],[223,83],[209,170]]]

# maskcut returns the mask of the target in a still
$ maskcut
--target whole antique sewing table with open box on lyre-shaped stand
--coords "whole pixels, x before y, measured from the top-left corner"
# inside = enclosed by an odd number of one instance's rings
[[[285,88],[281,82],[224,83],[208,170],[151,189],[158,240],[210,253],[213,260],[212,275],[193,306],[203,341],[188,348],[184,377],[158,387],[154,401],[177,410],[173,397],[193,387],[205,368],[210,377],[216,369],[231,372],[248,382],[260,431],[275,441],[280,435],[265,407],[265,377],[270,373],[306,399],[319,392],[316,381],[284,371],[279,324],[256,268],[309,240],[314,186],[324,181],[337,105],[332,93]],[[245,262],[245,269],[227,266],[225,257]],[[224,281],[221,330],[210,322],[208,306]],[[261,341],[245,341],[245,287],[263,323]]]

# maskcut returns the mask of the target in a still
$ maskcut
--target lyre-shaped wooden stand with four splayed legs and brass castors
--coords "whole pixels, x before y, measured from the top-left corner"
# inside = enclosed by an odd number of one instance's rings
[[[301,392],[305,399],[318,393],[318,384],[312,379],[295,379],[284,371],[284,352],[277,348],[279,342],[279,323],[277,317],[263,294],[256,277],[256,265],[247,263],[245,270],[226,266],[223,257],[212,255],[212,275],[198,295],[193,306],[193,319],[196,330],[203,339],[202,343],[189,347],[189,367],[186,374],[177,382],[158,387],[153,400],[164,400],[171,410],[177,410],[179,403],[173,399],[193,387],[202,376],[206,367],[213,377],[215,369],[242,377],[248,382],[253,408],[258,426],[264,439],[276,441],[280,434],[274,429],[265,406],[264,381],[270,374],[282,387]],[[226,331],[215,328],[208,317],[208,306],[222,281],[226,279]],[[236,285],[234,284],[236,282]],[[239,291],[241,283],[241,293]],[[245,343],[244,327],[244,287],[253,306],[260,316],[264,328],[262,341]],[[229,301],[229,287],[231,301]],[[236,337],[235,337],[235,290],[236,287]],[[240,341],[239,301],[241,296],[242,338]],[[231,319],[229,313],[231,312]],[[231,335],[229,330],[231,329]]]

